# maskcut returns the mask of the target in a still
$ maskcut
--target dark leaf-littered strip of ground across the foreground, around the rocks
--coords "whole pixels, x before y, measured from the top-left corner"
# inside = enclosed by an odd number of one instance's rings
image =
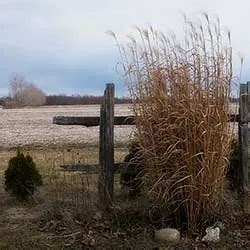
[[[109,214],[92,206],[76,207],[50,197],[47,185],[29,203],[18,203],[5,193],[0,177],[0,249],[250,249],[250,217],[238,211],[224,218],[226,229],[218,243],[203,243],[201,235],[179,243],[154,240],[156,225],[145,217],[139,201],[117,202]],[[120,204],[125,204],[126,208]],[[138,203],[137,203],[138,202]]]

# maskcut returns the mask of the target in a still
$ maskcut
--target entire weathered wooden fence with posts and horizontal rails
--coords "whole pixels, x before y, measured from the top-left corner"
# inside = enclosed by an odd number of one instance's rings
[[[99,164],[97,165],[67,165],[66,171],[82,171],[99,173],[99,204],[106,209],[113,199],[114,172],[125,163],[114,163],[114,125],[134,125],[133,116],[114,117],[114,84],[107,84],[104,100],[101,105],[100,117],[62,117],[53,118],[53,123],[60,125],[100,125]],[[239,115],[229,115],[228,121],[239,123],[240,166],[238,185],[243,191],[244,210],[250,213],[250,82],[240,85]]]

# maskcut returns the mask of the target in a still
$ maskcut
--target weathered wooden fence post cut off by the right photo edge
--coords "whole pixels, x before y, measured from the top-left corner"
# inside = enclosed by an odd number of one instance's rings
[[[249,155],[249,95],[250,82],[240,85],[240,121],[239,121],[239,144],[240,144],[240,162],[239,184],[243,189],[244,210],[250,213],[250,155]]]

